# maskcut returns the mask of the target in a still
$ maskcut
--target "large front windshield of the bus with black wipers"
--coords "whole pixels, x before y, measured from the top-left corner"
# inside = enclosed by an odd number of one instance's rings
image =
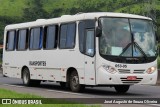
[[[100,18],[101,55],[122,57],[155,57],[156,39],[151,20]]]

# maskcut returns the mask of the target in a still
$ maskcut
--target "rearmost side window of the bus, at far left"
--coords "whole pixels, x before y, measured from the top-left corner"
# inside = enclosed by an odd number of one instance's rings
[[[13,51],[15,49],[16,31],[8,31],[6,38],[6,50]]]

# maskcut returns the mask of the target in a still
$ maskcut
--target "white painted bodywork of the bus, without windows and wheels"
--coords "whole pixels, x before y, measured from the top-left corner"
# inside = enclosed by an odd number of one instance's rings
[[[21,23],[21,24],[12,24],[8,25],[5,28],[4,33],[4,50],[3,50],[3,74],[8,77],[21,78],[21,70],[23,66],[27,66],[30,70],[31,79],[37,80],[51,80],[51,81],[63,81],[66,82],[67,69],[74,67],[79,75],[80,84],[85,85],[114,85],[114,84],[123,84],[120,78],[127,76],[137,76],[138,78],[143,78],[139,84],[155,84],[157,80],[157,72],[153,74],[111,74],[107,72],[102,65],[106,64],[112,67],[115,67],[114,62],[103,59],[99,55],[99,44],[98,38],[96,38],[96,55],[94,58],[83,55],[79,51],[79,40],[78,40],[78,28],[76,30],[76,44],[74,49],[53,49],[53,50],[33,50],[29,51],[6,51],[6,35],[8,30],[18,30],[22,28],[32,28],[36,26],[46,26],[54,25],[61,23],[76,22],[77,26],[79,20],[86,19],[95,19],[101,16],[111,16],[111,17],[126,17],[126,18],[138,18],[138,19],[147,19],[150,18],[132,15],[132,14],[123,14],[123,13],[83,13],[77,15],[67,15],[59,18],[53,19],[40,19],[33,22]],[[96,23],[97,26],[97,23]],[[92,62],[94,65],[92,69],[89,69],[89,65],[85,66],[85,61],[89,61],[89,64]],[[29,61],[46,61],[46,66],[30,66]],[[118,63],[117,63],[118,64]],[[145,69],[145,71],[152,66],[157,64],[157,60],[147,64],[126,64],[127,69],[131,71],[135,69]],[[146,68],[147,67],[147,68]],[[87,69],[86,69],[87,68]],[[117,71],[117,68],[115,68]],[[84,79],[82,79],[84,78]],[[110,80],[112,78],[112,80]],[[152,80],[151,80],[152,79]]]

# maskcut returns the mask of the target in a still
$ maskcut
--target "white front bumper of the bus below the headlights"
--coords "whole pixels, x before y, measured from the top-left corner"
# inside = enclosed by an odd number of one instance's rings
[[[128,77],[136,77],[134,80],[129,80]],[[107,72],[103,67],[100,67],[97,71],[97,85],[155,85],[157,82],[158,72],[157,70],[152,74],[144,72],[143,74],[125,73],[120,74],[116,72],[114,74]]]

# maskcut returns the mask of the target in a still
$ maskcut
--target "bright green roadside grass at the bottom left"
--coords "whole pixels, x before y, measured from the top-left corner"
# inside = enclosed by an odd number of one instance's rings
[[[10,91],[6,89],[0,89],[0,98],[42,98],[41,96],[37,95],[32,95],[32,94],[21,94],[17,93],[15,91]],[[70,104],[70,102],[63,101],[63,100],[56,100],[52,99],[51,100],[53,103],[56,104],[42,104],[42,105],[18,105],[18,104],[13,104],[13,105],[0,105],[1,107],[100,107],[99,105],[85,105],[85,104]],[[63,102],[63,104],[61,104]],[[66,102],[66,104],[64,104]],[[68,103],[68,104],[67,104]]]

